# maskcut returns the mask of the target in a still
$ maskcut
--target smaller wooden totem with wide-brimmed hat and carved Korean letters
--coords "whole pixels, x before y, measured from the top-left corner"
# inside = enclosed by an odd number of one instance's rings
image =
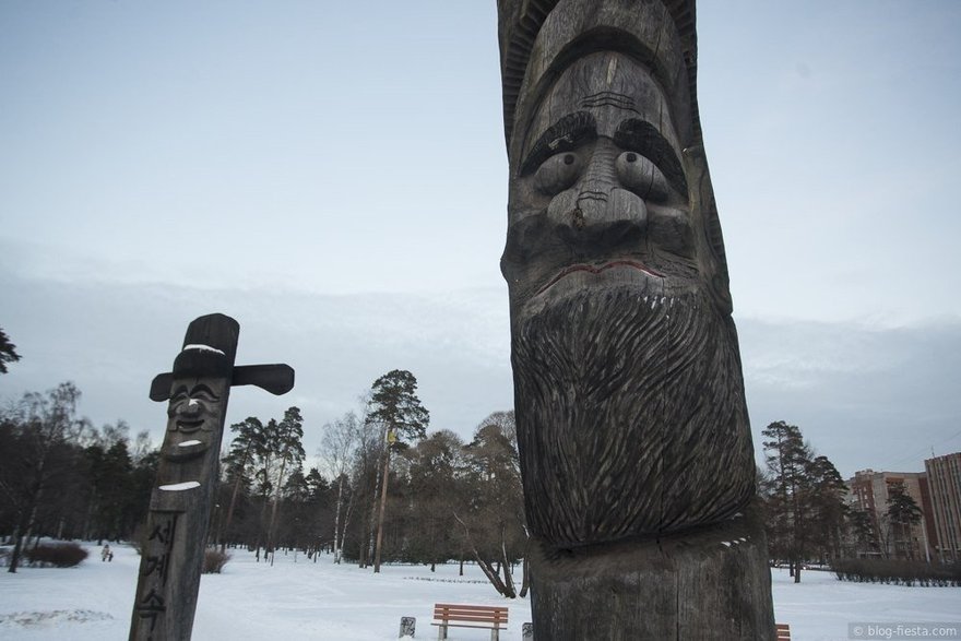
[[[130,641],[190,639],[230,387],[252,384],[273,394],[294,387],[287,365],[234,367],[239,332],[237,321],[221,313],[195,319],[174,370],[151,385],[150,397],[169,405]]]

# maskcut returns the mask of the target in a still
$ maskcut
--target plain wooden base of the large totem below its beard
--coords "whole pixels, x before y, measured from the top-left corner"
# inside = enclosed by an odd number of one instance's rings
[[[773,639],[767,546],[755,524],[531,559],[534,638]],[[576,607],[574,607],[576,606]]]

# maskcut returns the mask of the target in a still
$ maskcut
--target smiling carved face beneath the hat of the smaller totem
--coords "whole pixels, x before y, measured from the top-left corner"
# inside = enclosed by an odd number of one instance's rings
[[[168,446],[164,455],[188,461],[210,448],[212,434],[220,427],[224,379],[175,379],[167,406]]]

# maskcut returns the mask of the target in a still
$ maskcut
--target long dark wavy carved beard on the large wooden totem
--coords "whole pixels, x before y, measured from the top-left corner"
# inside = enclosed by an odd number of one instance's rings
[[[755,467],[733,322],[702,294],[586,289],[512,341],[527,523],[558,548],[743,510]]]

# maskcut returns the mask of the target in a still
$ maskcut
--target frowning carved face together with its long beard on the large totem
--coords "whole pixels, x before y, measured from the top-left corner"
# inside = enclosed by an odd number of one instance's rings
[[[501,269],[518,438],[529,524],[557,547],[716,522],[754,489],[699,209],[709,178],[672,114],[648,68],[595,50],[513,132]]]

